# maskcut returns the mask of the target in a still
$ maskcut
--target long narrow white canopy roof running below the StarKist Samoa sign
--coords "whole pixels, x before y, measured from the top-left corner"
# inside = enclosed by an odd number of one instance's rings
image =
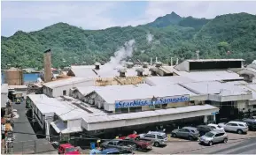
[[[129,113],[129,114],[112,114],[112,115],[105,115],[105,116],[99,115],[99,116],[93,116],[93,117],[89,116],[89,117],[83,117],[82,119],[88,123],[112,122],[112,121],[117,121],[117,120],[149,118],[149,117],[153,117],[153,116],[167,115],[167,114],[182,114],[182,113],[189,113],[189,112],[209,110],[209,109],[218,110],[217,107],[213,107],[210,105],[202,105],[202,106],[167,108],[167,109],[136,112],[136,113]]]

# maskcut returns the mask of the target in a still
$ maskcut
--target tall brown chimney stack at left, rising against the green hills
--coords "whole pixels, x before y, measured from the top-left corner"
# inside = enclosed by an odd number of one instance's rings
[[[50,82],[52,77],[50,55],[50,49],[44,51],[44,82]]]

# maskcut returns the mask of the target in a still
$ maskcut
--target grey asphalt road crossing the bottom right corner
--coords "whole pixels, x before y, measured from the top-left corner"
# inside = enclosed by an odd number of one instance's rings
[[[242,142],[217,144],[197,151],[186,151],[182,154],[256,154],[256,137]]]

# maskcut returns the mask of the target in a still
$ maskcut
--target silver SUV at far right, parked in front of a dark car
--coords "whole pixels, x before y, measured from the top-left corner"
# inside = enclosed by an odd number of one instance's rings
[[[238,134],[243,134],[243,133],[246,134],[248,131],[248,126],[246,122],[231,121],[225,124],[224,129],[225,131],[233,131],[233,132],[237,132]]]

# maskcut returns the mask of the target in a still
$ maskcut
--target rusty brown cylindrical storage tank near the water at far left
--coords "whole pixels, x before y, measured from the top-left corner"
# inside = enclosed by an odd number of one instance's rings
[[[13,67],[9,70],[5,70],[4,77],[5,83],[8,85],[23,85],[24,83],[23,71]]]

